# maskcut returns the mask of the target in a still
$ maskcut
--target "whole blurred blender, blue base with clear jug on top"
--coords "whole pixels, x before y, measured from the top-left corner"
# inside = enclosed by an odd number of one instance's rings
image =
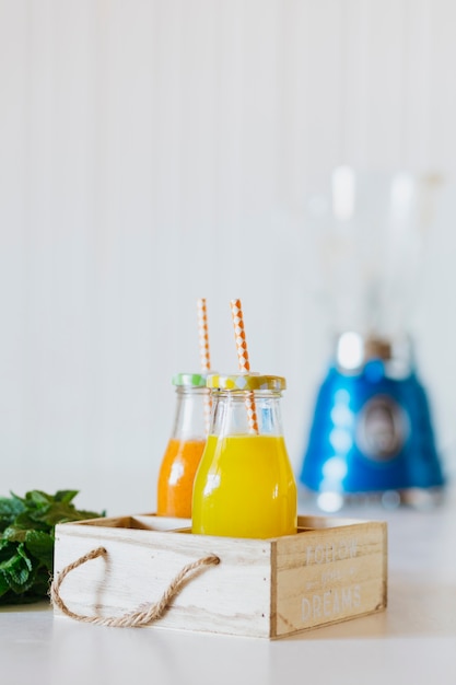
[[[432,175],[340,166],[306,202],[339,335],[300,480],[327,511],[374,496],[389,506],[440,499],[444,477],[410,341],[439,186]]]

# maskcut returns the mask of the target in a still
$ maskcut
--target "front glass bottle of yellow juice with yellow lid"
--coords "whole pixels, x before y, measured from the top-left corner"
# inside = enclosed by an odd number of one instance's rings
[[[192,533],[257,538],[294,534],[296,484],[280,415],[285,380],[211,374],[208,386],[211,431],[195,478]]]

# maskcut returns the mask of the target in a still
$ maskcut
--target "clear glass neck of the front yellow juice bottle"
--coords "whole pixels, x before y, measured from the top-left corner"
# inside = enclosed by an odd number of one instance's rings
[[[281,396],[277,391],[212,391],[210,433],[283,436]],[[255,428],[252,411],[255,411]]]

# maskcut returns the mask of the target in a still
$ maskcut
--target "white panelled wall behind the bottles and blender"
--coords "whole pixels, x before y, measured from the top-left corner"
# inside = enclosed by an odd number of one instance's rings
[[[0,495],[153,511],[171,378],[284,375],[301,468],[332,333],[306,198],[332,169],[432,174],[410,323],[456,471],[456,5],[0,0]]]

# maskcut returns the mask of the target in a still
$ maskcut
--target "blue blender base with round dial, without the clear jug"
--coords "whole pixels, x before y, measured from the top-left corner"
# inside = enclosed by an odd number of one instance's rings
[[[378,497],[386,506],[440,501],[444,475],[412,347],[341,335],[318,391],[301,484],[323,510]]]

